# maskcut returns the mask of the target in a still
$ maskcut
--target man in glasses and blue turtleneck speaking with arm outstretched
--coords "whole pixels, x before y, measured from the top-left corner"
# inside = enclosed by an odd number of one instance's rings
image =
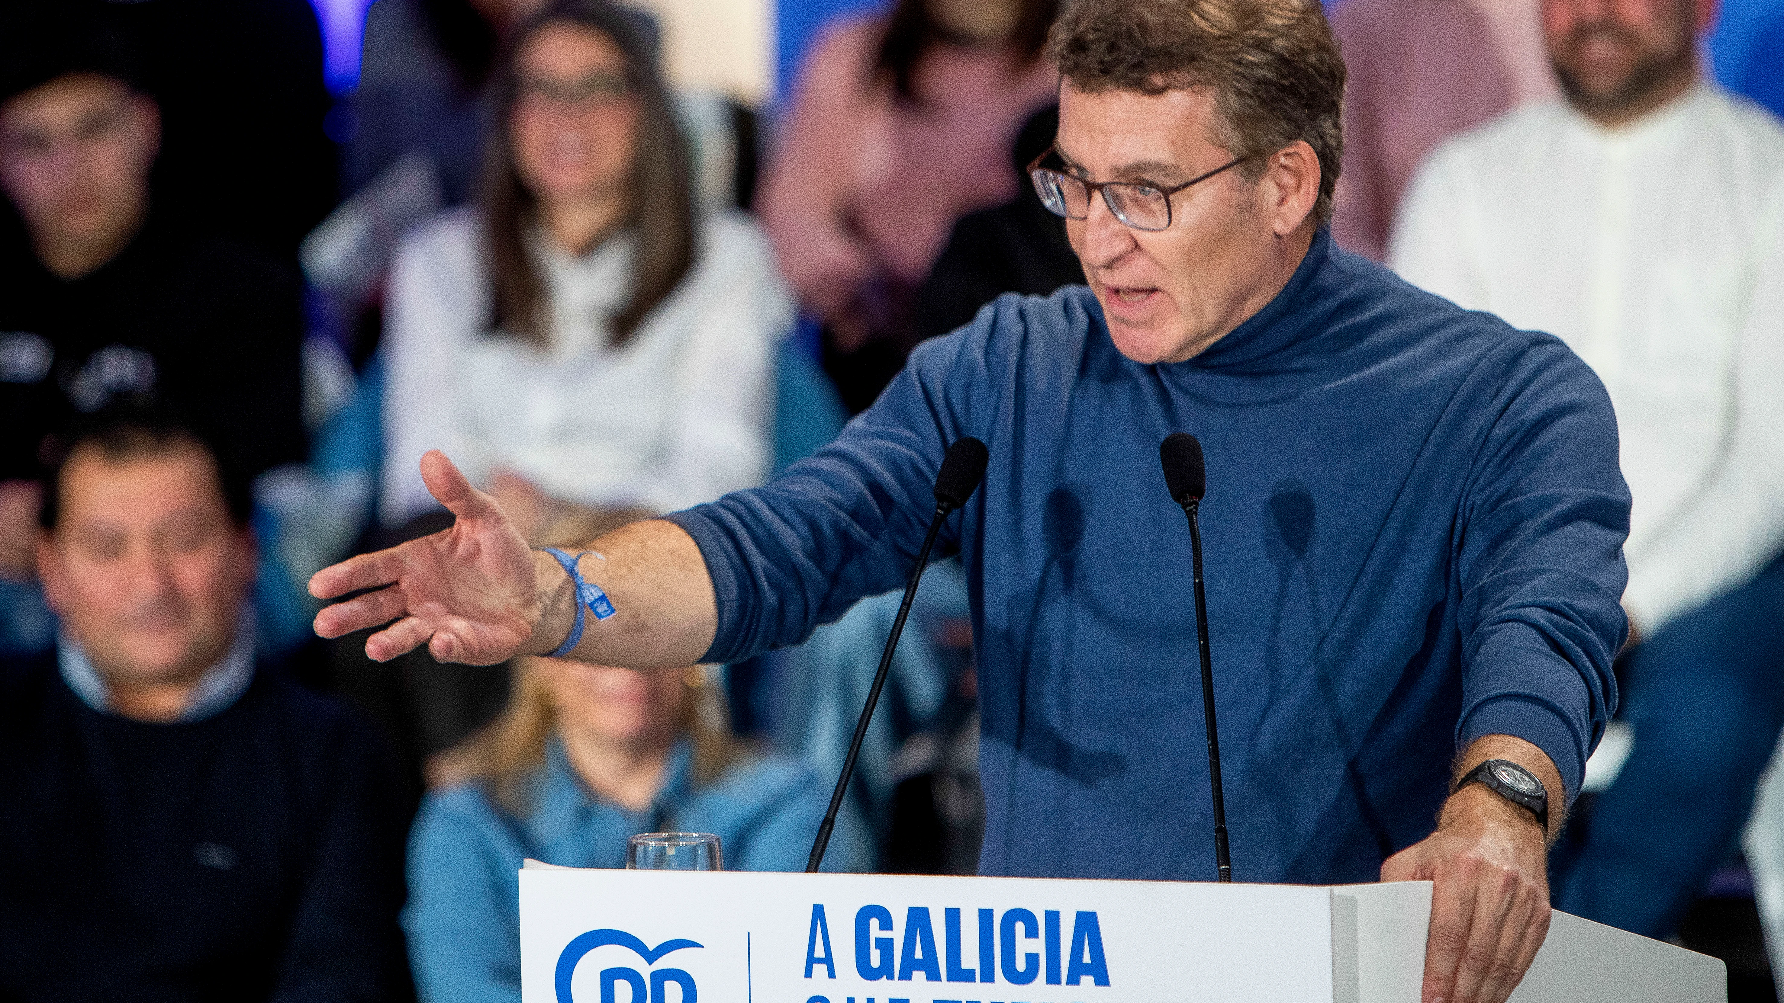
[[[323,598],[375,591],[316,628],[394,621],[373,659],[457,662],[573,632],[573,657],[633,667],[794,644],[903,584],[942,453],[974,435],[985,485],[937,553],[972,598],[981,871],[1211,880],[1190,548],[1158,462],[1192,432],[1235,873],[1431,878],[1424,998],[1500,1001],[1615,703],[1609,400],[1559,341],[1333,248],[1343,62],[1317,4],[1081,0],[1051,50],[1035,182],[1088,289],[999,300],[772,484],[601,537],[574,568],[605,619],[430,453],[457,525],[318,573]]]

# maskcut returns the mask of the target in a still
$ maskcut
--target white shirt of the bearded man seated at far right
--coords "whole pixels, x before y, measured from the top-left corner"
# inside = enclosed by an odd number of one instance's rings
[[[1784,128],[1698,84],[1620,128],[1554,102],[1440,146],[1406,280],[1568,343],[1616,407],[1623,603],[1652,634],[1784,546]]]

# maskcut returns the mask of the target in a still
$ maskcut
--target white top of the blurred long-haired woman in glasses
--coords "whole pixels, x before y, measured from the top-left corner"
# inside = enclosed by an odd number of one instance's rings
[[[551,344],[489,325],[475,211],[444,212],[396,252],[385,307],[387,525],[437,509],[419,460],[444,450],[473,484],[510,469],[553,498],[660,512],[760,484],[771,459],[774,344],[792,298],[767,237],[710,216],[694,268],[612,350],[633,237],[582,257],[532,241],[551,298]]]

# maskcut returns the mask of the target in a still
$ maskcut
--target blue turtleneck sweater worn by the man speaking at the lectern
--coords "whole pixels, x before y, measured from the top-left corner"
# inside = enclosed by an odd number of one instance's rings
[[[1190,541],[1158,444],[1208,457],[1208,618],[1233,873],[1370,882],[1449,767],[1506,734],[1566,796],[1615,707],[1629,491],[1597,377],[1333,248],[1202,355],[1142,366],[1094,296],[1004,296],[842,437],[676,514],[719,600],[705,660],[897,587],[947,443],[983,701],[987,875],[1211,880]]]

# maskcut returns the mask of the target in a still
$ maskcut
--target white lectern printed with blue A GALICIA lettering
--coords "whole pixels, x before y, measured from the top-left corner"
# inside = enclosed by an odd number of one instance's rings
[[[521,871],[524,1003],[1418,1003],[1431,885]],[[756,996],[762,999],[756,1001]],[[1556,914],[1513,1003],[1718,1003]]]

